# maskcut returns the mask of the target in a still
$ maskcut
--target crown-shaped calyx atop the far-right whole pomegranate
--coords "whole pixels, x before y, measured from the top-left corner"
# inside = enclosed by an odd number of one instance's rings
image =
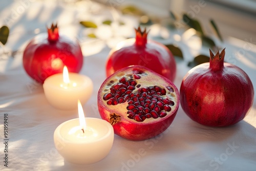
[[[216,55],[210,51],[210,69],[212,71],[220,71],[224,67],[224,57],[225,57],[224,48],[221,53],[218,51]]]

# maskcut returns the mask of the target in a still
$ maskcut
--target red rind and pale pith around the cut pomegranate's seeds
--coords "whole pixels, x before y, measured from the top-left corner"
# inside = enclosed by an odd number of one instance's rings
[[[128,70],[145,71],[149,75],[149,79],[155,79],[155,81],[157,81],[155,83],[164,81],[166,82],[165,85],[171,86],[173,88],[174,92],[171,94],[172,94],[172,98],[176,99],[175,101],[176,103],[174,106],[172,106],[173,107],[172,111],[169,114],[167,114],[167,116],[163,118],[159,117],[153,121],[148,121],[146,119],[143,122],[137,122],[134,119],[127,118],[126,116],[127,110],[126,111],[124,110],[124,108],[126,109],[125,104],[127,104],[127,102],[121,105],[120,104],[115,105],[111,108],[108,105],[106,105],[106,102],[102,100],[102,97],[103,97],[102,92],[106,90],[105,85],[107,85],[110,82],[110,80],[115,80],[116,77],[114,77],[114,75],[120,76],[120,73],[127,73]],[[159,77],[161,78],[161,80],[159,80]],[[141,84],[141,87],[143,87],[142,84]],[[133,141],[141,141],[141,140],[153,138],[161,134],[162,132],[164,132],[166,129],[168,129],[169,125],[173,122],[178,112],[179,103],[180,103],[179,91],[176,88],[176,86],[169,79],[142,66],[130,66],[130,67],[125,67],[121,70],[118,70],[115,74],[106,78],[106,80],[102,83],[98,91],[98,110],[101,118],[110,122],[113,125],[114,133],[116,135],[128,140],[133,140]],[[110,119],[111,114],[116,114],[117,116],[120,116],[120,121],[117,123],[112,123]]]

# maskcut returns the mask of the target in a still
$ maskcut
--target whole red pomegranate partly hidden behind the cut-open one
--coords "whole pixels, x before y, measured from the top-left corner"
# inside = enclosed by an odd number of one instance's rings
[[[174,81],[176,62],[172,52],[154,40],[147,40],[146,29],[135,29],[136,38],[121,41],[113,48],[106,61],[106,76],[131,65],[149,68]]]

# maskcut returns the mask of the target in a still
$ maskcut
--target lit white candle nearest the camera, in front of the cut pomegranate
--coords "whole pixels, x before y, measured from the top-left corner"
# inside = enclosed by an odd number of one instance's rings
[[[79,118],[61,123],[54,132],[59,154],[68,162],[91,164],[106,157],[113,145],[113,126],[102,119],[84,118],[78,101]]]

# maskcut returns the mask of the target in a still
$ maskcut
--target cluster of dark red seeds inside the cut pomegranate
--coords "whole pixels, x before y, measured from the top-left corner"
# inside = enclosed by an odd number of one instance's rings
[[[140,75],[133,74],[133,78],[140,79]],[[125,77],[119,79],[118,83],[115,83],[110,88],[110,93],[106,93],[103,96],[103,100],[107,101],[108,105],[117,105],[119,103],[128,102],[127,105],[127,117],[136,121],[142,122],[146,118],[158,118],[167,115],[166,112],[170,112],[170,106],[174,105],[172,100],[163,98],[161,96],[166,95],[166,90],[159,86],[150,86],[140,88],[140,84],[137,84],[136,80]],[[135,94],[133,91],[136,88],[138,92]],[[170,92],[173,92],[171,87],[166,87]]]

